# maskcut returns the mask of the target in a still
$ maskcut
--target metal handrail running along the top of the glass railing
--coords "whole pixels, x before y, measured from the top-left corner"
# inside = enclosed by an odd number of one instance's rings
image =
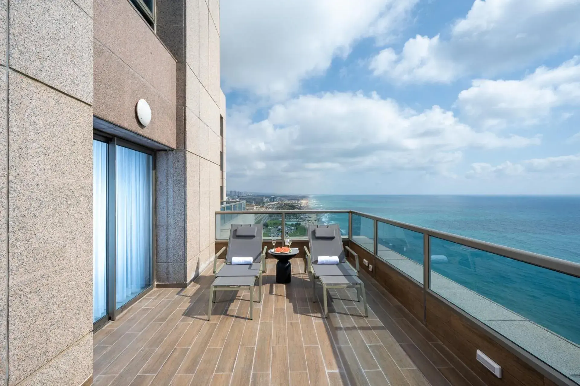
[[[422,226],[412,225],[396,220],[382,218],[380,216],[375,216],[363,212],[351,211],[347,209],[341,210],[300,210],[300,211],[216,211],[216,215],[227,215],[227,214],[340,214],[348,213],[350,215],[358,215],[365,218],[375,220],[377,222],[386,223],[393,226],[398,226],[404,229],[412,230],[418,233],[426,234],[427,236],[432,236],[440,238],[441,240],[447,240],[455,242],[456,244],[465,245],[466,247],[471,247],[478,249],[480,251],[494,253],[495,255],[504,256],[509,259],[517,260],[523,263],[532,264],[537,267],[542,267],[552,271],[557,271],[563,274],[575,276],[580,278],[580,264],[570,262],[568,260],[553,258],[551,256],[540,255],[539,253],[523,251],[521,249],[504,247],[503,245],[493,244],[487,241],[475,240],[473,238],[459,236],[457,234],[447,233],[443,231],[438,231],[434,229],[429,229]],[[350,233],[350,230],[349,230]],[[376,254],[376,253],[375,253]]]

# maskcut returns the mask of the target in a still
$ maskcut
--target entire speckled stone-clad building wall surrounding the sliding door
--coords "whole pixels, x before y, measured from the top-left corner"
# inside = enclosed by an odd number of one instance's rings
[[[219,0],[157,0],[155,28],[130,0],[0,0],[1,385],[90,384],[93,116],[169,149],[154,280],[186,285],[225,183]]]

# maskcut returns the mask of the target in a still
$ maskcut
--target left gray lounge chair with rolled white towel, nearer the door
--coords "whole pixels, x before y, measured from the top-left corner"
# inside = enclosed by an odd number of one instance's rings
[[[248,288],[250,291],[250,319],[253,319],[253,287],[258,284],[258,302],[262,301],[262,273],[266,270],[266,248],[262,249],[262,224],[232,225],[228,242],[226,263],[217,270],[218,256],[226,247],[220,249],[213,257],[213,275],[215,280],[209,287],[208,320],[212,313],[212,303],[215,303],[215,291],[233,291]],[[232,265],[234,256],[251,257],[252,264]]]

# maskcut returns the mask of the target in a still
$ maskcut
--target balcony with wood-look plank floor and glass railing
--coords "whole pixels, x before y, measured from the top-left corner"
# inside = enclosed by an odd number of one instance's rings
[[[330,291],[326,319],[319,287],[311,302],[309,222],[339,223],[360,256],[368,319],[354,290]],[[291,284],[276,284],[269,259],[253,320],[247,291],[218,292],[210,322],[211,267],[187,288],[154,289],[95,333],[95,384],[580,383],[580,264],[353,211],[219,211],[216,251],[231,223],[263,223],[264,245],[292,238]]]

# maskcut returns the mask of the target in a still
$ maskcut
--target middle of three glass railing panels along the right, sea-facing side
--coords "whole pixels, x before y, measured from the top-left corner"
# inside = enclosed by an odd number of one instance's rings
[[[423,233],[377,224],[377,255],[423,284]]]

